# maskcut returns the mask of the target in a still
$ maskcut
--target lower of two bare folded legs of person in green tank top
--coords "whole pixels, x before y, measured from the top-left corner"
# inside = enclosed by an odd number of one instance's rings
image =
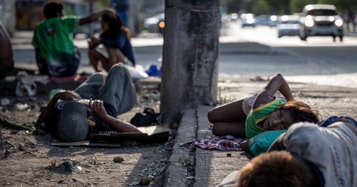
[[[215,136],[231,135],[245,138],[245,122],[217,122],[213,125],[212,134]]]

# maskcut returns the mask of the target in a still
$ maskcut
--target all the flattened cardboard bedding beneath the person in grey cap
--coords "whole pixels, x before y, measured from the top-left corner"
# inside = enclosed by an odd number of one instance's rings
[[[76,142],[52,142],[52,146],[99,146],[120,147],[120,142],[125,140],[140,141],[145,143],[166,142],[169,139],[170,129],[167,126],[148,126],[138,128],[142,133],[110,133],[91,134],[90,140]]]

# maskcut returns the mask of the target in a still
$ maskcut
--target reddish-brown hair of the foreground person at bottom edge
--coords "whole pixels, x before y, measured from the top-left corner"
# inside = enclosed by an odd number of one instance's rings
[[[310,168],[289,152],[260,154],[239,171],[237,187],[307,187]]]

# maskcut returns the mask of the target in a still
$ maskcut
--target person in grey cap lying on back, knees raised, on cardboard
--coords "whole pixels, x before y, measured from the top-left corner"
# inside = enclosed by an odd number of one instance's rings
[[[59,99],[64,101],[57,104]],[[50,133],[63,141],[83,141],[90,134],[141,133],[116,118],[135,103],[129,72],[122,64],[115,64],[105,81],[102,73],[94,73],[74,92],[57,93],[39,116],[35,133]]]

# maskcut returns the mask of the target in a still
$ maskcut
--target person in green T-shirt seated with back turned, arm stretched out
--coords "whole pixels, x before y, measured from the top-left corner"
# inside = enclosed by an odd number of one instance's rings
[[[103,15],[116,16],[114,9],[102,9],[89,16],[64,16],[64,4],[48,1],[43,9],[46,20],[37,24],[32,38],[36,62],[41,74],[64,77],[76,73],[80,53],[73,44],[72,32],[81,25],[98,20]]]

